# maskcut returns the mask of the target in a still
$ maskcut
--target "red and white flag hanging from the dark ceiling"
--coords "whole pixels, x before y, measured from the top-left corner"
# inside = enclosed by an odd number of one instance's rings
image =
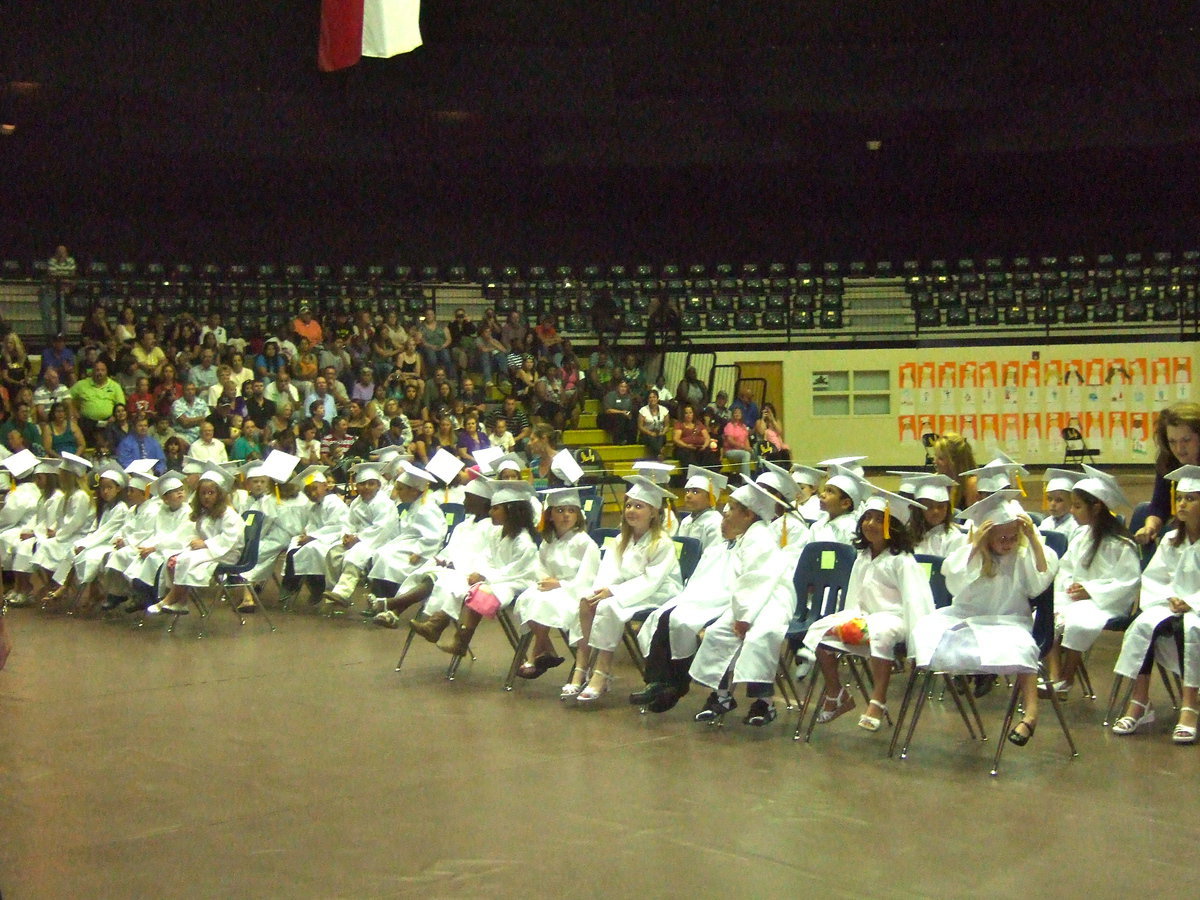
[[[421,46],[421,0],[322,0],[317,65],[335,72],[362,56],[386,59]]]

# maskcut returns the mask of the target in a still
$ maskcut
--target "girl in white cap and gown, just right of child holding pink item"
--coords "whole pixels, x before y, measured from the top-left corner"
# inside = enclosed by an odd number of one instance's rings
[[[592,588],[600,569],[600,547],[587,532],[583,503],[575,487],[542,491],[545,518],[533,586],[517,595],[516,619],[533,631],[521,678],[540,678],[563,662],[554,653],[551,629],[578,630],[580,598]]]

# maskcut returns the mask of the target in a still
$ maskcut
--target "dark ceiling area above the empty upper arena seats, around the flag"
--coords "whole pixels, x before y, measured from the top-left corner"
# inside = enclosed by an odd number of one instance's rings
[[[425,47],[323,76],[316,0],[8,5],[0,247],[478,262],[1186,242],[1200,13],[1147,6],[425,0]]]

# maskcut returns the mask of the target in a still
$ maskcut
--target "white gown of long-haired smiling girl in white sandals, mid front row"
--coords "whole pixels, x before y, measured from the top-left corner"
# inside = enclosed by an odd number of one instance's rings
[[[661,606],[682,587],[679,557],[670,536],[649,530],[640,540],[630,541],[624,552],[620,538],[616,538],[601,552],[596,578],[592,589],[584,592],[584,596],[601,588],[612,592],[612,596],[596,604],[588,643],[598,650],[617,649],[625,623],[635,612]],[[571,646],[583,637],[578,628],[571,631]]]

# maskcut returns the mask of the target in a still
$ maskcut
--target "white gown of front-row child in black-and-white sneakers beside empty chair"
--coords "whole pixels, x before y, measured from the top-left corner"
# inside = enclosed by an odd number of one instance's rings
[[[794,560],[767,523],[752,523],[730,553],[730,606],[704,631],[690,668],[695,680],[713,690],[731,665],[733,684],[774,682],[779,650],[796,614]],[[736,622],[750,623],[744,638],[733,630]]]

